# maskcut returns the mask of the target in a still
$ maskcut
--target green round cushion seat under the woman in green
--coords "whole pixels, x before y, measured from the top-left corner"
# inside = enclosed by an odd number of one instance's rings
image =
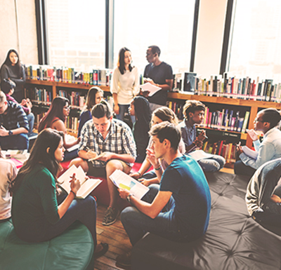
[[[1,270],[87,269],[92,265],[93,238],[80,222],[74,222],[51,241],[27,243],[15,235],[11,220],[0,222]]]

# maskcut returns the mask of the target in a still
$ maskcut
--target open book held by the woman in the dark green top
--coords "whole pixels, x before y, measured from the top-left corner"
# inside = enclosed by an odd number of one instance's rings
[[[93,189],[96,189],[98,185],[102,182],[100,179],[91,179],[86,177],[84,170],[79,166],[72,165],[68,170],[65,171],[60,177],[58,177],[58,183],[67,194],[70,193],[70,180],[72,180],[72,175],[75,173],[75,177],[80,180],[81,187],[77,191],[77,198],[86,198]]]

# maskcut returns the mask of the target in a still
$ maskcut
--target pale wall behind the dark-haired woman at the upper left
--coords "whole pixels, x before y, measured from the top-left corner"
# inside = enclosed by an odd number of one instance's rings
[[[18,11],[18,27],[16,8]],[[0,65],[8,50],[14,48],[24,64],[37,64],[37,32],[34,0],[1,0]]]

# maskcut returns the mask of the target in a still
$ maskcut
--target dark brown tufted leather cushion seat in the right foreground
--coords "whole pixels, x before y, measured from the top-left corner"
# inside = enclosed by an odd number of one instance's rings
[[[148,234],[134,247],[132,269],[280,269],[281,237],[249,217],[249,177],[209,173],[211,216],[207,233],[191,243]]]

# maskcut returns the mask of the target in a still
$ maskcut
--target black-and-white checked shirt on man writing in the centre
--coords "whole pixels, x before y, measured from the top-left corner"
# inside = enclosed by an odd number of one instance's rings
[[[112,120],[110,130],[105,138],[93,125],[93,120],[87,121],[81,130],[81,142],[78,151],[85,150],[87,147],[98,155],[108,151],[115,154],[129,154],[136,158],[136,143],[133,140],[133,133],[129,126],[123,121]],[[105,167],[105,161],[92,161],[94,167]],[[128,163],[133,166],[133,163]]]

